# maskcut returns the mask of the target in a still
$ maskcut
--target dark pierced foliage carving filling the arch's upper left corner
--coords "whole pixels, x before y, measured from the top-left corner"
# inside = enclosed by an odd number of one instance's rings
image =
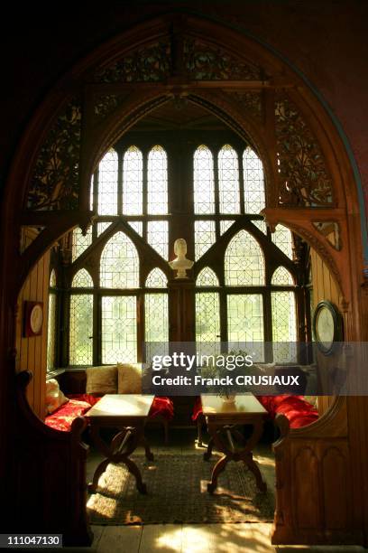
[[[80,131],[81,106],[73,98],[41,146],[28,191],[28,209],[78,208]]]

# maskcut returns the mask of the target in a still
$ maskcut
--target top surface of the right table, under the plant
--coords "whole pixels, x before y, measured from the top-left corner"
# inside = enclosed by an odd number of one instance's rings
[[[218,396],[203,395],[203,414],[205,417],[214,415],[216,417],[244,417],[244,415],[264,415],[267,413],[257,398],[252,393],[236,396],[234,403],[224,403]]]

